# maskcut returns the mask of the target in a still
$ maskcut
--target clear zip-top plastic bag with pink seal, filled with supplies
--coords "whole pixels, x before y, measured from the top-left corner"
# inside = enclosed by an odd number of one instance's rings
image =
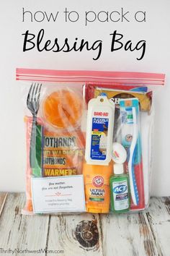
[[[17,69],[27,140],[23,213],[148,207],[153,95],[164,74]]]

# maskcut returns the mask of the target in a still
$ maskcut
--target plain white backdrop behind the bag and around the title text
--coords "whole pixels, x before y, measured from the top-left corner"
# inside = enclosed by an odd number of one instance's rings
[[[29,16],[22,22],[22,7],[31,11],[60,12],[56,22],[30,22]],[[79,12],[78,22],[64,22],[63,11]],[[84,25],[84,12],[92,10],[130,12],[130,22],[91,22]],[[136,22],[135,12],[146,11],[146,22]],[[170,95],[170,26],[169,0],[5,0],[0,2],[0,191],[24,191],[25,144],[23,109],[19,82],[15,81],[16,67],[43,69],[86,69],[134,72],[166,73],[166,87],[156,94],[156,119],[154,134],[152,195],[170,195],[169,168],[169,95]],[[37,34],[45,29],[46,38],[85,38],[91,42],[103,40],[102,55],[94,61],[94,52],[71,53],[22,52],[26,30]],[[117,30],[124,35],[124,42],[146,40],[146,54],[134,51],[110,53],[110,33]]]

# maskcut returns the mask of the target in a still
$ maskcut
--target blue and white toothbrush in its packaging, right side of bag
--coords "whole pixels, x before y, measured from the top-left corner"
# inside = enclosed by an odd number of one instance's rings
[[[128,153],[128,173],[130,178],[131,208],[144,208],[143,166],[139,124],[138,98],[120,100],[122,145]]]

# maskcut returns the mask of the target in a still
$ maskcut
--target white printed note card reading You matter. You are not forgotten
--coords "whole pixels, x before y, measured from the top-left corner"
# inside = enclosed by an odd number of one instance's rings
[[[34,213],[84,212],[84,176],[32,178]]]

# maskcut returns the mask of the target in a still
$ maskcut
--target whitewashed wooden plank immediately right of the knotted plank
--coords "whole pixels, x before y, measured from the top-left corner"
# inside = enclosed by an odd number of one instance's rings
[[[145,214],[109,214],[100,218],[104,255],[158,255]]]

